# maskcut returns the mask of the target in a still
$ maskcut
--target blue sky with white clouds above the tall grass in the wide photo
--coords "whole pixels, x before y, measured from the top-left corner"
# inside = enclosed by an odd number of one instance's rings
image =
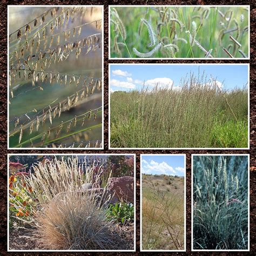
[[[200,66],[200,69],[199,69]],[[190,72],[198,76],[205,75],[208,78],[217,79],[219,85],[225,90],[234,87],[242,88],[248,82],[247,65],[111,65],[110,66],[110,90],[130,91],[141,89],[143,82],[147,87],[153,87],[157,83],[161,85],[180,85],[180,79],[190,75]],[[224,82],[224,83],[223,83]]]

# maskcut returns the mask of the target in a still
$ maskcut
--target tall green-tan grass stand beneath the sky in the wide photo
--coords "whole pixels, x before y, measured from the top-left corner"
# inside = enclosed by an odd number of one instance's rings
[[[179,90],[113,92],[111,147],[247,147],[247,97],[246,87],[220,92],[204,75]]]

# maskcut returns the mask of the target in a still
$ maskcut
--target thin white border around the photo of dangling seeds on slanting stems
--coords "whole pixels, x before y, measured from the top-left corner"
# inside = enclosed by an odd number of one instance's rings
[[[22,5],[23,7],[100,7],[102,8],[102,147],[9,147],[9,8],[21,5],[7,5],[7,149],[8,150],[104,150],[104,5]]]

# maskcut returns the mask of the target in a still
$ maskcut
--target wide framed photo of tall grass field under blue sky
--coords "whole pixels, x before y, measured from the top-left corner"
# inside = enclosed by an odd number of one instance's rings
[[[110,149],[248,149],[248,64],[109,64]]]

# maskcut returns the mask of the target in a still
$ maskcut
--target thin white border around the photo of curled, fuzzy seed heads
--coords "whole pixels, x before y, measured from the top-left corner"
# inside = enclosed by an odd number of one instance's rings
[[[110,8],[111,7],[154,7],[154,6],[158,6],[158,7],[198,7],[198,6],[204,6],[204,7],[246,7],[248,8],[248,58],[212,58],[211,60],[215,60],[215,59],[223,59],[223,60],[250,60],[250,49],[251,49],[251,6],[250,5],[217,5],[217,4],[212,4],[212,5],[109,5],[109,59],[192,59],[192,60],[206,60],[206,58],[111,58],[111,42],[110,42]]]

